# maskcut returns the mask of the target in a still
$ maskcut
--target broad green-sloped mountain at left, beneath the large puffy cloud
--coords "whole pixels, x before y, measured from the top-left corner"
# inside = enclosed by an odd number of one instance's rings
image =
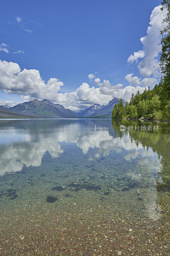
[[[49,117],[49,118],[74,118],[78,117],[70,109],[66,109],[63,105],[52,103],[49,100],[31,100],[20,103],[10,109],[16,110],[24,115]]]

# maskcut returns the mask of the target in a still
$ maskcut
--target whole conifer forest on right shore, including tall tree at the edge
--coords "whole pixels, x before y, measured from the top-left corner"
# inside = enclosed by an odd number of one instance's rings
[[[160,54],[160,67],[162,76],[159,84],[152,90],[144,90],[143,93],[132,93],[130,102],[122,104],[122,99],[112,112],[112,118],[141,118],[159,121],[170,120],[170,1],[164,0],[161,10],[165,12],[163,23],[166,24],[162,35]]]

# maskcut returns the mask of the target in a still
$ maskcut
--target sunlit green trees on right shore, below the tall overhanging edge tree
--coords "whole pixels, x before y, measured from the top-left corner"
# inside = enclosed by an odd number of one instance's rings
[[[130,99],[130,102],[126,102],[123,106],[122,99],[112,111],[112,118],[152,118],[153,120],[170,120],[170,101],[166,100],[166,104],[162,107],[161,96],[162,95],[162,84],[164,78],[150,90],[144,90],[143,93],[137,92]]]

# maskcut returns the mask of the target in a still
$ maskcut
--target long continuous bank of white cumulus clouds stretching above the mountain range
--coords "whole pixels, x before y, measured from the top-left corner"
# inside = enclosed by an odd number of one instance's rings
[[[130,100],[131,94],[144,91],[144,83],[150,84],[150,79],[141,81],[141,85],[133,82],[133,74],[129,74],[129,83],[131,85],[122,88],[122,84],[111,85],[104,79],[94,79],[97,86],[90,87],[89,84],[81,84],[75,91],[69,93],[59,93],[63,82],[57,78],[50,78],[47,83],[42,80],[39,70],[26,69],[21,70],[19,65],[14,62],[0,60],[0,90],[7,94],[20,95],[24,101],[35,98],[42,100],[44,98],[55,103],[62,104],[65,108],[71,110],[88,108],[94,103],[106,105],[114,97],[124,100]],[[139,81],[140,82],[140,81]],[[143,84],[142,84],[143,83]]]

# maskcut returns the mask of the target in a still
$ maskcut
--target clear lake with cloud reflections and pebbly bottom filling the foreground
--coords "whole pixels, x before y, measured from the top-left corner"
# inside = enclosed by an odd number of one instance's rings
[[[168,255],[169,133],[128,120],[0,120],[2,255]]]

